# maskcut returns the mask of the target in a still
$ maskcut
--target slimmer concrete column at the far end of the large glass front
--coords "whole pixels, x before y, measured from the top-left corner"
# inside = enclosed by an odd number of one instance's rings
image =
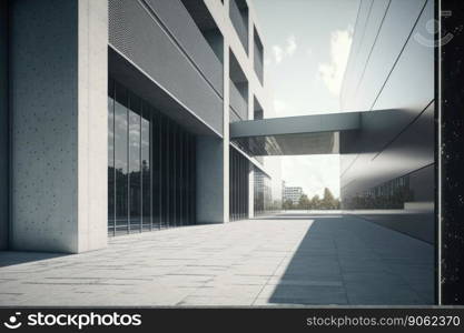
[[[229,222],[229,47],[224,41],[223,138],[197,138],[197,222]]]

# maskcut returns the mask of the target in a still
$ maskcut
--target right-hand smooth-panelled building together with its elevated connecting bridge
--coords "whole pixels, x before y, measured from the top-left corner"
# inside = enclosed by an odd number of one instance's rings
[[[231,140],[250,155],[340,154],[344,210],[435,242],[433,27],[433,0],[359,1],[344,112],[233,123]]]

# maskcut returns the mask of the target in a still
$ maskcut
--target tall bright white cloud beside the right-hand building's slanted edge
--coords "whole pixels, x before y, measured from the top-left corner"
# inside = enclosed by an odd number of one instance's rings
[[[353,27],[336,30],[330,36],[330,62],[319,64],[319,77],[328,91],[338,97],[353,41]]]

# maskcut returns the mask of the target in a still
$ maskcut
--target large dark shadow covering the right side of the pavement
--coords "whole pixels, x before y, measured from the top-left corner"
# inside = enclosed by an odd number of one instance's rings
[[[275,216],[263,220],[287,220]],[[303,214],[295,220],[305,219]],[[273,276],[276,304],[434,303],[434,248],[353,215],[314,215],[294,255]]]

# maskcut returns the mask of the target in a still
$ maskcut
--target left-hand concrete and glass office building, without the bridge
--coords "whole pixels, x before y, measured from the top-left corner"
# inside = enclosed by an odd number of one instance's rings
[[[253,216],[269,174],[229,141],[270,108],[249,1],[1,7],[1,249],[77,253]]]

